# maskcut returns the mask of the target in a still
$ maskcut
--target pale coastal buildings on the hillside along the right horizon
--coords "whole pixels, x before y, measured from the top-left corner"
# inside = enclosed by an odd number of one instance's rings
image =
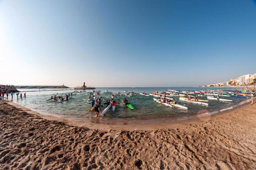
[[[220,82],[216,84],[209,84],[199,87],[231,87],[231,86],[255,86],[256,85],[256,73],[255,74],[245,74],[243,76],[240,76],[238,78],[231,79],[229,81]]]

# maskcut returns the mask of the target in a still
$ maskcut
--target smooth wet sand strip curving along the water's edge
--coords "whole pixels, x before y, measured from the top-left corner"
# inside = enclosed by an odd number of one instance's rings
[[[256,100],[256,99],[254,99]],[[239,110],[240,108],[244,108],[246,106],[250,105],[250,101],[248,99],[248,102],[238,105],[235,108],[232,109],[226,109],[224,111],[219,111],[218,113],[215,114],[207,114],[201,113],[197,115],[192,115],[190,118],[185,119],[185,120],[172,120],[169,122],[161,122],[160,120],[156,120],[157,123],[145,123],[145,124],[125,124],[126,122],[123,122],[124,124],[114,124],[114,123],[96,123],[96,122],[86,122],[86,121],[76,121],[76,120],[68,120],[66,118],[58,118],[53,115],[46,115],[46,114],[40,114],[36,110],[32,110],[31,108],[27,108],[25,106],[21,106],[20,104],[14,103],[11,100],[2,100],[4,102],[8,102],[8,104],[15,106],[16,108],[20,108],[29,114],[37,115],[40,116],[41,118],[44,118],[46,120],[50,121],[59,121],[65,124],[68,124],[70,126],[78,126],[78,127],[87,127],[90,129],[97,129],[97,130],[159,130],[159,129],[164,129],[164,128],[180,128],[184,127],[186,124],[197,124],[205,120],[212,120],[215,118],[218,118],[218,116],[228,114],[230,112],[235,112],[236,110]],[[108,120],[109,122],[115,122],[115,120]],[[108,122],[106,121],[106,122]],[[152,120],[154,121],[154,120]]]

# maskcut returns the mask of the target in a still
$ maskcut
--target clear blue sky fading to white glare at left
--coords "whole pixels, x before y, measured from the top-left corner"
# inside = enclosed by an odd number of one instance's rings
[[[256,73],[255,44],[255,0],[0,1],[0,84],[212,84]]]

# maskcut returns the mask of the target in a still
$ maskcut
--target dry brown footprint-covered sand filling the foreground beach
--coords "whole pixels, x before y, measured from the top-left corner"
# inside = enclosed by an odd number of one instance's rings
[[[256,104],[158,130],[58,120],[0,101],[0,169],[256,169]]]

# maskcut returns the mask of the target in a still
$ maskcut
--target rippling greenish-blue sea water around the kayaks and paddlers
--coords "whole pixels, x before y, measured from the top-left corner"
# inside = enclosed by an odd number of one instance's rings
[[[106,93],[105,90],[109,92]],[[233,102],[220,102],[216,100],[209,100],[208,106],[201,106],[198,104],[192,104],[188,102],[183,102],[176,96],[171,98],[177,99],[177,104],[188,107],[188,110],[182,110],[176,107],[163,106],[154,102],[153,96],[141,96],[139,93],[146,92],[147,94],[153,91],[163,91],[163,90],[189,90],[189,91],[199,91],[207,90],[212,88],[199,88],[199,87],[138,87],[138,88],[96,88],[95,90],[100,90],[102,97],[102,104],[108,100],[112,99],[110,94],[113,93],[116,96],[116,101],[120,103],[124,99],[124,95],[118,96],[116,93],[120,91],[124,94],[124,90],[128,92],[134,91],[136,95],[131,97],[126,97],[129,103],[134,106],[134,110],[126,108],[122,104],[116,106],[116,110],[113,112],[112,109],[108,110],[106,116],[99,116],[96,118],[95,112],[90,112],[91,104],[88,101],[88,95],[92,90],[86,90],[86,92],[76,93],[76,95],[71,96],[69,101],[65,102],[51,102],[47,101],[50,99],[51,95],[58,93],[57,96],[68,94],[69,92],[74,92],[74,89],[69,90],[58,90],[58,91],[46,91],[46,90],[56,90],[56,89],[40,89],[40,92],[32,92],[39,89],[18,89],[19,91],[27,91],[26,98],[20,96],[16,97],[14,94],[13,101],[22,106],[28,107],[35,110],[41,114],[53,115],[59,118],[66,118],[68,120],[75,121],[87,121],[96,122],[104,124],[144,124],[144,123],[155,123],[155,122],[170,122],[176,120],[186,120],[194,117],[200,117],[205,115],[211,115],[224,111],[227,109],[235,108],[245,102],[248,102],[248,98],[239,97],[222,97],[224,99],[233,100]],[[223,90],[243,90],[245,88],[216,88]],[[79,90],[80,91],[80,90]],[[24,94],[24,92],[22,92]],[[9,95],[10,98],[10,95]],[[205,97],[200,97],[200,99],[205,99]],[[106,106],[102,106],[102,111]]]

